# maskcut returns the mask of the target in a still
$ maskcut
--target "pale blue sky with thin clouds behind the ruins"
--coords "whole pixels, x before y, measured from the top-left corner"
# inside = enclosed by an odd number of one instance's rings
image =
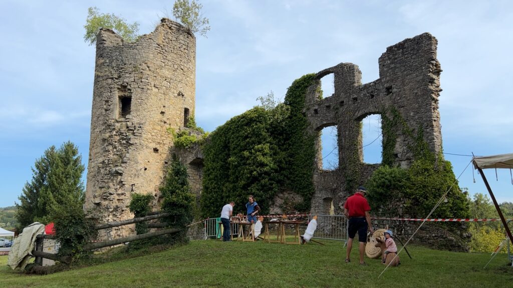
[[[208,38],[198,36],[196,121],[212,131],[257,105],[271,90],[283,98],[292,81],[341,62],[377,79],[386,47],[430,32],[442,65],[444,152],[513,152],[513,2],[509,1],[202,1]],[[31,167],[67,140],[87,164],[95,49],[84,43],[87,8],[121,15],[153,31],[168,1],[2,1],[0,22],[0,207],[14,204]],[[168,11],[168,12],[166,12]],[[377,119],[364,120],[365,143]],[[328,134],[328,133],[325,133]],[[325,137],[328,154],[329,137]],[[379,162],[380,141],[365,147]],[[328,156],[329,159],[332,155]],[[455,174],[470,157],[446,155]],[[509,171],[485,172],[499,201],[513,201]],[[486,193],[468,167],[460,186]]]

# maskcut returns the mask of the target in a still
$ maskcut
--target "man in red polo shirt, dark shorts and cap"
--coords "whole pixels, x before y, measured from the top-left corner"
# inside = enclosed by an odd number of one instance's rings
[[[349,239],[347,240],[346,263],[350,262],[349,254],[352,249],[352,241],[358,232],[358,241],[360,242],[360,265],[367,265],[363,261],[363,253],[365,252],[365,243],[367,242],[367,230],[373,232],[370,224],[370,206],[367,199],[365,199],[365,188],[358,187],[356,193],[347,198],[344,204],[344,215],[349,219],[347,233]]]

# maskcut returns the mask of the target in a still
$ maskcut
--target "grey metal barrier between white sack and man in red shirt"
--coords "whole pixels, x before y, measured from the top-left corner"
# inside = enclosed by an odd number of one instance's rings
[[[313,215],[308,216],[308,221]],[[347,218],[344,215],[317,215],[317,230],[312,238],[347,242]]]

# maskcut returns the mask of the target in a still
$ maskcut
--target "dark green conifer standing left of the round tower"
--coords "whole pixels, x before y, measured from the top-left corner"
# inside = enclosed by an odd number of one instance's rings
[[[59,149],[48,148],[35,161],[32,180],[25,183],[23,194],[18,197],[16,218],[19,228],[34,221],[51,221],[51,215],[63,205],[82,207],[84,170],[82,156],[72,142],[65,142]]]

